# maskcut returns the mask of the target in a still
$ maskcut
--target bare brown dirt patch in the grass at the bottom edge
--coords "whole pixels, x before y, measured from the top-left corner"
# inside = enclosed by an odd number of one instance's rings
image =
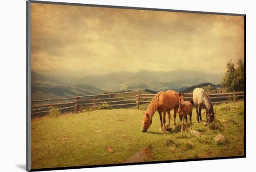
[[[151,146],[142,149],[141,151],[135,152],[133,156],[130,156],[123,163],[132,163],[132,162],[144,162],[145,159],[151,159],[154,152]]]

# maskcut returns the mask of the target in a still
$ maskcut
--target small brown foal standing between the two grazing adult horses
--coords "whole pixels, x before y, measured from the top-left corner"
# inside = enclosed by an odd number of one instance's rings
[[[189,114],[189,121],[190,121],[190,130],[192,130],[192,110],[193,105],[189,101],[184,101],[184,93],[179,93],[179,100],[180,100],[180,106],[178,109],[179,117],[182,123],[182,129],[181,132],[183,132],[183,121],[184,118],[186,119],[186,132],[188,132],[188,117]]]

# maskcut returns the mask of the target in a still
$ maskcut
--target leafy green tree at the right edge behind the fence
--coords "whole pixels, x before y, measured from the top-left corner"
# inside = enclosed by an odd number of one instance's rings
[[[244,90],[244,63],[237,60],[236,67],[231,61],[227,63],[227,70],[221,83],[228,92]]]

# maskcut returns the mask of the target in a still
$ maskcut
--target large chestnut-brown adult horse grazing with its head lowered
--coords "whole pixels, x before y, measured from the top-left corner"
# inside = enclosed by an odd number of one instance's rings
[[[166,112],[168,113],[169,122],[170,125],[170,118],[171,114],[170,111],[174,109],[174,128],[176,128],[176,112],[179,108],[179,95],[177,92],[168,90],[166,92],[161,91],[155,95],[155,97],[151,100],[150,104],[148,105],[148,109],[146,112],[144,112],[143,117],[143,124],[141,127],[142,132],[147,132],[149,126],[152,124],[152,117],[155,114],[155,111],[159,113],[160,122],[161,122],[161,129],[163,130],[163,133],[165,133],[166,126],[165,126],[165,117]],[[162,118],[163,113],[163,118]],[[162,128],[163,126],[163,128]]]

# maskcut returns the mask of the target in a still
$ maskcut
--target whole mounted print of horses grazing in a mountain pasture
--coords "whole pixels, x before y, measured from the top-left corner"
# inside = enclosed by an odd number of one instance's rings
[[[27,1],[27,171],[244,158],[245,60],[245,14]]]

